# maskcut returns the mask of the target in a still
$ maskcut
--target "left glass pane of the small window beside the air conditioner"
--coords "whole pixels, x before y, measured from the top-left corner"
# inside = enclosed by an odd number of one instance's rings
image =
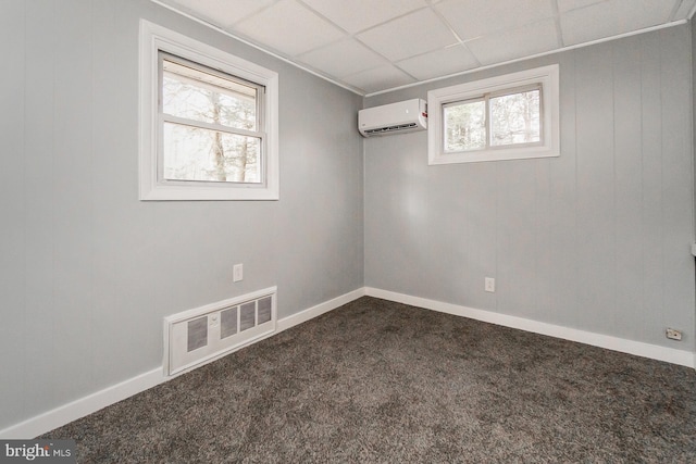
[[[486,147],[486,104],[471,101],[444,108],[445,151],[477,150]]]

